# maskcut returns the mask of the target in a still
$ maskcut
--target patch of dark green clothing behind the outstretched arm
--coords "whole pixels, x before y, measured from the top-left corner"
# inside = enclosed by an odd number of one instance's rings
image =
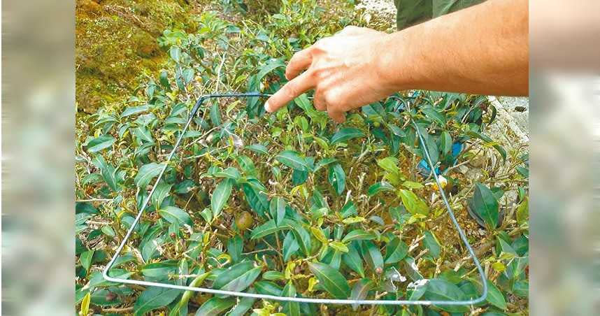
[[[483,1],[485,0],[394,0],[398,10],[396,24],[398,29],[406,29]]]

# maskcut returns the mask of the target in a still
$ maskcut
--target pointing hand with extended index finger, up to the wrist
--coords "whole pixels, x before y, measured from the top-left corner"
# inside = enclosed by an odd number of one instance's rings
[[[274,112],[315,89],[315,108],[327,110],[334,121],[341,123],[346,111],[394,93],[380,62],[380,53],[388,49],[387,35],[364,27],[345,27],[297,52],[285,69],[290,81],[266,101],[265,110]]]

